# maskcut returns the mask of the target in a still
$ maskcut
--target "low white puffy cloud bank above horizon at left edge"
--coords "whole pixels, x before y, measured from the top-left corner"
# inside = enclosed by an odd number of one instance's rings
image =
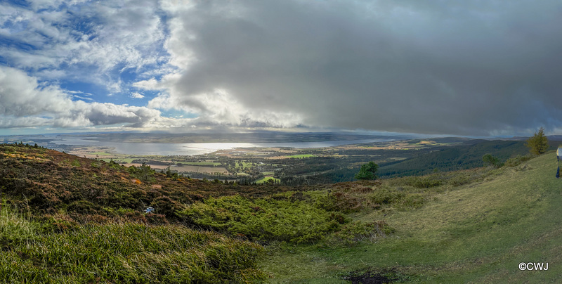
[[[0,67],[0,127],[144,127],[160,115],[145,107],[72,101],[56,86],[42,86],[13,67]]]

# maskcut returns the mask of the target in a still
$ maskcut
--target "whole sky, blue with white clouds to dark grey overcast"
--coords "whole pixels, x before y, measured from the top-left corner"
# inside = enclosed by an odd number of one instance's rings
[[[0,1],[0,135],[562,134],[562,2]]]

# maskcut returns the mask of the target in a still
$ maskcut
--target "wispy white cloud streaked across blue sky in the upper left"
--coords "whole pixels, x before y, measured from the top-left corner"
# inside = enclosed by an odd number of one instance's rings
[[[156,1],[0,4],[0,56],[41,79],[73,79],[121,91],[123,72],[166,68]]]

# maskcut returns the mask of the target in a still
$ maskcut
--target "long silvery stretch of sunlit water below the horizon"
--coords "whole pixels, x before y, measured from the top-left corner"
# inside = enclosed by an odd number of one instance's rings
[[[367,139],[350,141],[321,142],[290,142],[290,143],[128,143],[93,141],[81,138],[57,137],[51,141],[58,145],[70,146],[102,146],[115,148],[115,152],[126,155],[202,155],[217,150],[251,147],[291,147],[291,148],[323,148],[348,144],[391,141],[391,139]]]

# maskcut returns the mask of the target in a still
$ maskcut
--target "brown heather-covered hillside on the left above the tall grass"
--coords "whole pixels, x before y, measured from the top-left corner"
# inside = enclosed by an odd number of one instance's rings
[[[160,174],[150,167],[122,167],[46,148],[0,144],[2,193],[16,207],[71,217],[144,219],[146,207],[157,207],[149,222],[177,221],[176,211],[192,202],[224,195],[261,196],[287,187],[242,187],[218,181]],[[294,188],[290,188],[294,190]],[[117,212],[117,209],[127,209]],[[99,216],[97,216],[99,215]],[[157,217],[155,217],[157,216]]]

